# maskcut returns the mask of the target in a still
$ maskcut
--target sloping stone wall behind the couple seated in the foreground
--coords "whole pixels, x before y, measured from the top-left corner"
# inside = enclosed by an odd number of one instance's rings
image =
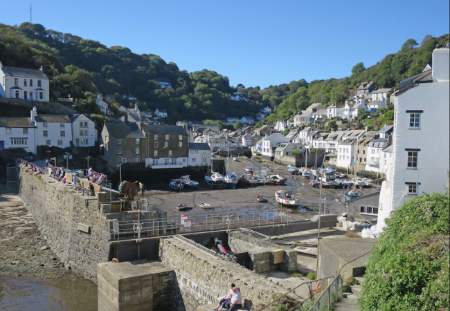
[[[159,243],[161,263],[175,272],[173,310],[196,311],[199,305],[217,303],[231,283],[240,288],[244,306],[250,309],[253,305],[252,310],[258,310],[288,292],[264,276],[192,244],[195,243],[185,243],[177,238],[164,238]],[[294,306],[299,297],[293,293],[283,299],[282,303]]]

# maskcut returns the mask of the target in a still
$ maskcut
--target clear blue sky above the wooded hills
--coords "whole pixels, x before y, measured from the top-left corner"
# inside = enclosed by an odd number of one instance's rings
[[[233,86],[340,78],[409,38],[449,33],[449,1],[2,1],[1,23],[30,21],[105,46],[152,53]]]

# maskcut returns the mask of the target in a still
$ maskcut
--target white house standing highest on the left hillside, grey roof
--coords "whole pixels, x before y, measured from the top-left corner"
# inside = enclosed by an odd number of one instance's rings
[[[50,102],[50,81],[44,68],[3,66],[0,61],[0,97]]]

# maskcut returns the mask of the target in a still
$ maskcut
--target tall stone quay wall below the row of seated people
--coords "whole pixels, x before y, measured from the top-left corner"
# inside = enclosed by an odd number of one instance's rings
[[[19,175],[19,197],[33,216],[48,246],[67,268],[97,281],[97,263],[110,261],[109,224],[100,216],[95,197],[48,182],[44,175]]]

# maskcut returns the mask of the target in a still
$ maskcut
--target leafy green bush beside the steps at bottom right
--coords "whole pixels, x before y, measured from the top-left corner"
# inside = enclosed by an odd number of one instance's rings
[[[372,249],[359,307],[449,310],[449,194],[408,201]]]

